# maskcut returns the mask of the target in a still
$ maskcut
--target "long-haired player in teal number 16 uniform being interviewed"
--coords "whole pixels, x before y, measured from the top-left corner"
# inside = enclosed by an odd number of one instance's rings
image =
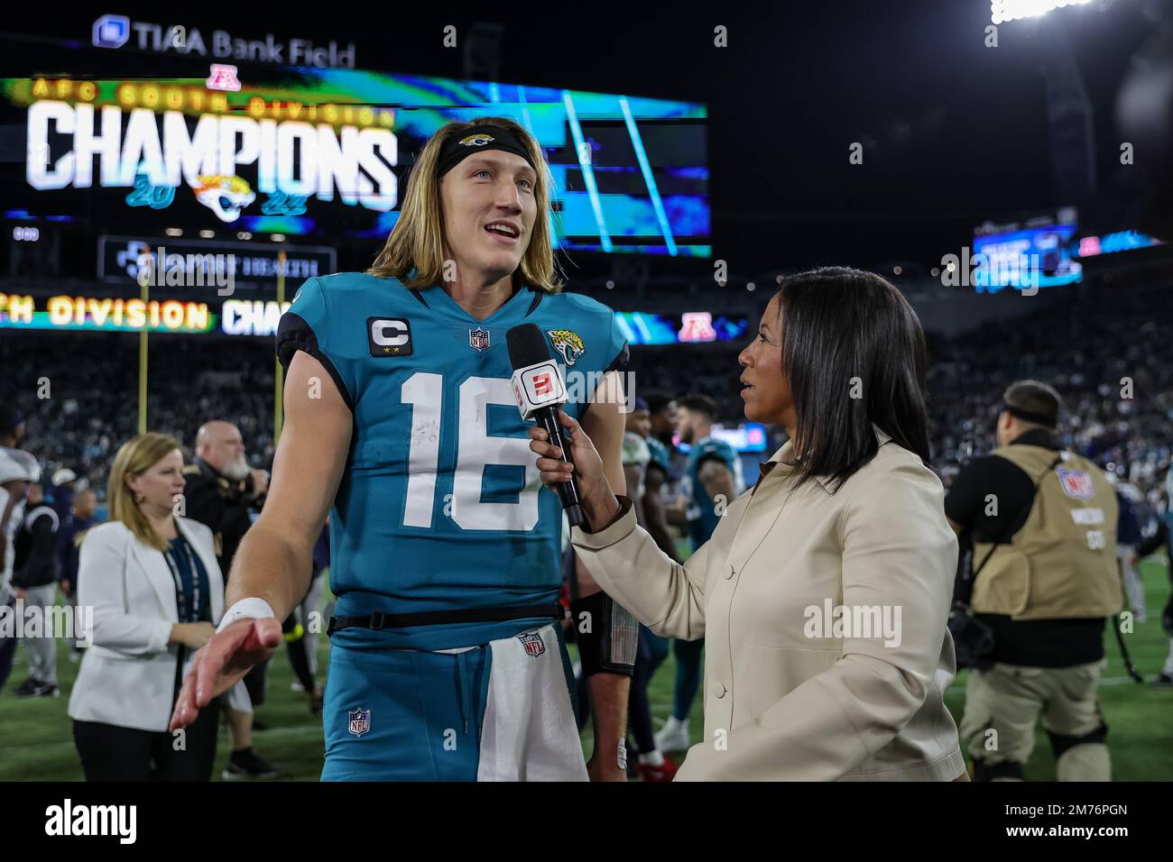
[[[371,270],[298,291],[278,330],[285,425],[269,496],[172,729],[280,643],[328,513],[323,780],[624,779],[635,620],[579,581],[595,620],[579,637],[596,717],[585,763],[556,603],[562,507],[510,385],[506,333],[536,324],[565,372],[565,410],[623,487],[626,344],[609,308],[560,293],[549,212],[549,171],[521,125],[449,123]]]

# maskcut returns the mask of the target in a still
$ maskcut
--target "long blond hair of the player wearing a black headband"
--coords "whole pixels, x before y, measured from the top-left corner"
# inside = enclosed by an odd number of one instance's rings
[[[399,220],[391,229],[391,236],[379,257],[367,270],[379,278],[398,278],[408,289],[430,287],[441,281],[443,274],[443,211],[440,203],[440,179],[436,165],[440,151],[449,138],[465,135],[479,125],[497,125],[508,129],[529,154],[537,168],[537,184],[534,199],[537,216],[534,232],[522,254],[517,274],[522,281],[536,291],[557,293],[563,283],[554,259],[554,240],[550,235],[550,171],[537,141],[516,121],[509,117],[474,117],[467,123],[448,123],[423,145],[419,159],[412,168],[404,195],[404,206]],[[411,276],[412,270],[415,274]]]

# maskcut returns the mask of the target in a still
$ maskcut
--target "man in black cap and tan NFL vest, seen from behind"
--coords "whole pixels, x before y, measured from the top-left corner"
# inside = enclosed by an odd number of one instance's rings
[[[1039,714],[1059,781],[1112,775],[1097,688],[1104,618],[1124,600],[1117,500],[1107,477],[1057,440],[1060,407],[1045,384],[1011,385],[998,448],[965,466],[945,497],[950,524],[974,542],[968,623],[992,634],[961,722],[978,781],[1023,779]]]

